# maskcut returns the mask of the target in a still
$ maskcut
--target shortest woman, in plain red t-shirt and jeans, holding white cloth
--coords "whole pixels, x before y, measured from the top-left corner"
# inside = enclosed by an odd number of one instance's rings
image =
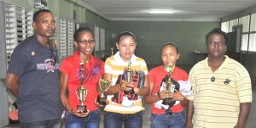
[[[170,42],[166,43],[161,49],[161,59],[163,64],[149,71],[148,80],[150,85],[150,93],[145,97],[145,103],[151,103],[151,128],[183,128],[185,124],[185,113],[183,106],[187,105],[188,100],[184,95],[188,95],[191,86],[188,81],[188,74],[176,66],[179,53],[177,46]],[[172,64],[172,67],[166,68]],[[173,91],[167,92],[165,86],[168,79],[171,78]],[[170,79],[171,80],[171,79]],[[183,94],[181,93],[183,92]],[[172,97],[169,105],[163,102],[166,97]]]

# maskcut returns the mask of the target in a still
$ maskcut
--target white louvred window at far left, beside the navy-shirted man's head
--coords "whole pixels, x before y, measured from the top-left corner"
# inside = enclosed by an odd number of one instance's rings
[[[3,3],[7,64],[18,43],[32,36],[32,10]]]

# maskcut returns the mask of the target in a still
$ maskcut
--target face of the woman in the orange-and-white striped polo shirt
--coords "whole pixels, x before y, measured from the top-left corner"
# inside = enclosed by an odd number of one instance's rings
[[[128,61],[135,52],[136,42],[132,36],[122,36],[116,47],[119,49],[120,57]]]

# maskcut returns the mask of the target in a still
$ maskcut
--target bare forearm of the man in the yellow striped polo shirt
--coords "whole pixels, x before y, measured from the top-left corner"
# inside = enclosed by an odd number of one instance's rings
[[[240,113],[235,126],[236,128],[245,128],[250,108],[251,103],[240,103]]]

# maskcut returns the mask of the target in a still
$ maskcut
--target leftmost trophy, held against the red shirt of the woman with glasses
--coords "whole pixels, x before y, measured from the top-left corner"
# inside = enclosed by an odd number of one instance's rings
[[[79,105],[77,106],[77,109],[79,110],[79,113],[86,113],[86,105],[84,104],[84,101],[88,95],[88,90],[84,87],[84,63],[80,64],[80,70],[79,70],[79,74],[80,76],[80,86],[77,89],[77,97],[79,98]]]

